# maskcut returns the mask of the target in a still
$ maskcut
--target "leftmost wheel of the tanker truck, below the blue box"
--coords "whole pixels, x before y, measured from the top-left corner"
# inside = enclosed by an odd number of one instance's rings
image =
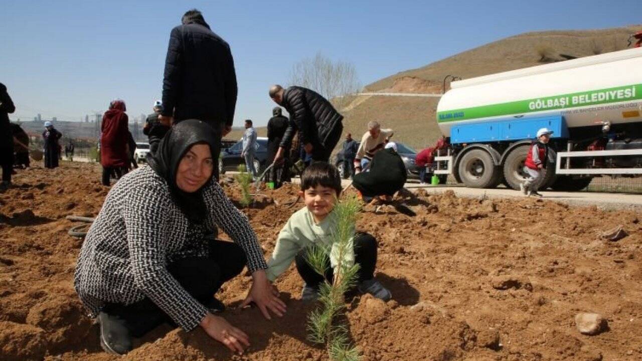
[[[493,188],[501,180],[499,168],[490,154],[482,149],[473,149],[464,154],[459,161],[458,173],[462,182],[470,188]]]

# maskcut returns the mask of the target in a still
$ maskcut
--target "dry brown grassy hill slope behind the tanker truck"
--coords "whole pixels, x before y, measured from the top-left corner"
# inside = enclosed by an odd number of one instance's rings
[[[630,33],[642,26],[604,30],[524,33],[480,46],[438,62],[388,76],[365,87],[373,92],[441,92],[446,75],[473,78],[561,60],[560,54],[586,57],[625,49]],[[412,54],[401,55],[412,56]],[[435,121],[437,98],[373,96],[355,100],[342,113],[345,132],[356,137],[377,120],[397,130],[395,139],[415,148],[435,142],[441,133]]]

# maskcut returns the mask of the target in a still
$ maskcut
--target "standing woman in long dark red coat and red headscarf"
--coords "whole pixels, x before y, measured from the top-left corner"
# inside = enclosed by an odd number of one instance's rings
[[[109,185],[110,175],[116,178],[127,173],[129,168],[129,119],[125,101],[112,100],[109,110],[103,115],[100,135],[100,164],[103,166],[103,185]]]

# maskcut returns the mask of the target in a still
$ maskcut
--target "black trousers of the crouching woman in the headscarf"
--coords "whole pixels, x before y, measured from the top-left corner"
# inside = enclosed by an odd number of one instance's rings
[[[241,274],[247,263],[243,249],[236,243],[214,240],[209,247],[209,258],[187,257],[167,267],[187,293],[202,304],[211,301],[223,283]],[[174,323],[147,297],[128,305],[108,303],[102,311],[123,319],[133,337],[141,337],[164,322]]]

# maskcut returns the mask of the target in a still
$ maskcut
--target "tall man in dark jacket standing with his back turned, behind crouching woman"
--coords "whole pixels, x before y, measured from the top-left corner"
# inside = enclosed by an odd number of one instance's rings
[[[214,128],[220,145],[221,136],[232,130],[238,94],[232,52],[198,10],[186,12],[181,22],[169,35],[159,120],[164,125],[204,121]],[[212,150],[214,164],[219,153]]]

